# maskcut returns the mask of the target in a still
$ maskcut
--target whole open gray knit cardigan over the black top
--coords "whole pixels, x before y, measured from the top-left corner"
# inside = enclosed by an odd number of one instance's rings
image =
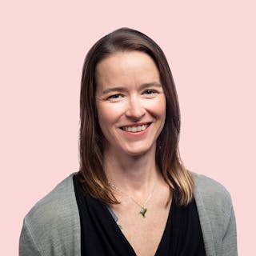
[[[207,256],[237,255],[234,210],[220,183],[194,174],[194,198]],[[24,218],[20,256],[81,255],[80,218],[73,174],[42,198]]]

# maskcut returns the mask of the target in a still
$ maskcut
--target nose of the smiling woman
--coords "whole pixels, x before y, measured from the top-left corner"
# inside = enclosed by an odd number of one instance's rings
[[[142,99],[138,97],[130,98],[126,110],[126,116],[138,120],[142,118],[144,114],[146,114],[146,109],[142,104]]]

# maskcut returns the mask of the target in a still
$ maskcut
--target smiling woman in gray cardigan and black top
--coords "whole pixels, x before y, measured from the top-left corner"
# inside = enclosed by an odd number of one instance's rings
[[[26,215],[20,255],[237,255],[230,194],[178,156],[178,97],[152,39],[96,42],[80,111],[80,170]]]

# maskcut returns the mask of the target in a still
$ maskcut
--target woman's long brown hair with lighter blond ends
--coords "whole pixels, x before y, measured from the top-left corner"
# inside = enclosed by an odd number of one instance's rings
[[[80,181],[85,192],[92,197],[108,204],[118,203],[103,168],[102,131],[95,104],[95,69],[98,62],[111,54],[131,50],[149,54],[158,67],[166,96],[166,122],[158,137],[156,162],[179,204],[186,206],[193,198],[194,181],[179,157],[180,110],[174,79],[161,48],[146,34],[129,28],[107,34],[86,55],[80,94]]]

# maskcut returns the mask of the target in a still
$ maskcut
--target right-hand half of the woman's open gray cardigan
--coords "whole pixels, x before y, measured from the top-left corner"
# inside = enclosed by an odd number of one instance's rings
[[[206,252],[216,255],[237,255],[236,224],[229,191],[212,178],[202,174],[192,175],[194,199]]]

